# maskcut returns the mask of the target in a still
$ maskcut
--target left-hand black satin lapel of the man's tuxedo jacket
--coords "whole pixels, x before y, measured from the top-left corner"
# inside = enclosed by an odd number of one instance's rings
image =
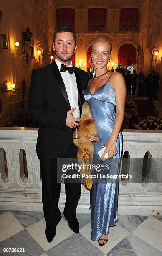
[[[53,65],[54,65],[53,74],[54,74],[54,77],[56,78],[56,81],[58,83],[58,87],[60,88],[60,90],[63,94],[63,97],[65,98],[65,100],[68,104],[69,109],[71,109],[71,106],[70,106],[70,103],[69,103],[69,100],[68,100],[68,95],[67,95],[67,92],[66,92],[66,87],[65,87],[65,84],[63,82],[60,71],[59,71],[55,61],[53,61]]]

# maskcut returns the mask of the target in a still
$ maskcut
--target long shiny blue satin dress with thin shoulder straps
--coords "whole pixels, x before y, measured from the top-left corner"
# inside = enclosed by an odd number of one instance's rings
[[[113,73],[111,73],[111,75],[112,74]],[[113,159],[103,162],[99,159],[97,154],[104,143],[108,141],[114,128],[116,101],[114,88],[109,83],[110,77],[105,84],[94,92],[94,94],[92,94],[89,87],[87,87],[85,91],[85,100],[91,109],[92,117],[94,118],[98,128],[97,136],[100,138],[99,141],[94,142],[94,159],[101,164],[109,163],[110,169],[106,172],[117,175],[119,174],[120,158],[122,154],[122,133],[120,132],[117,138],[116,149],[118,152]],[[110,226],[116,225],[118,182],[114,182],[113,179],[109,179],[109,181],[105,180],[105,183],[93,183],[90,192],[90,202],[92,229],[91,239],[98,241],[101,235],[109,233]]]

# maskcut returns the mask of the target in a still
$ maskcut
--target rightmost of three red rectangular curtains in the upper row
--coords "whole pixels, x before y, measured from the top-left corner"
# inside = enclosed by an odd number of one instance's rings
[[[120,31],[138,31],[139,9],[123,8],[120,10]]]

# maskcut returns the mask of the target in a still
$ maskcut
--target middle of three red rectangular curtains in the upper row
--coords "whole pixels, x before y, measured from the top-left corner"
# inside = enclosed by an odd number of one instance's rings
[[[107,9],[93,8],[88,10],[88,30],[106,31]]]

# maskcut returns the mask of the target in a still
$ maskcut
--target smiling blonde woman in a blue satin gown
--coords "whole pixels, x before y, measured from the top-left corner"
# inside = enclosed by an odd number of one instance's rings
[[[122,74],[109,72],[107,64],[110,59],[112,44],[107,36],[100,35],[92,43],[91,62],[96,77],[90,80],[85,91],[85,100],[89,104],[98,133],[87,138],[94,142],[94,162],[109,164],[109,171],[103,174],[119,174],[122,154],[122,133],[120,132],[126,97],[126,87]],[[97,152],[106,146],[102,157],[108,153],[103,162]],[[93,183],[91,192],[91,239],[104,245],[108,241],[109,227],[116,225],[118,182],[105,179],[104,183]]]

